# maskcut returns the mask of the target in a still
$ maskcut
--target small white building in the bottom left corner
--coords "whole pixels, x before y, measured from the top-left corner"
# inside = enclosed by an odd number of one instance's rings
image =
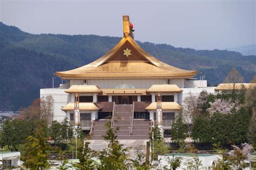
[[[0,168],[20,167],[21,152],[0,152]]]

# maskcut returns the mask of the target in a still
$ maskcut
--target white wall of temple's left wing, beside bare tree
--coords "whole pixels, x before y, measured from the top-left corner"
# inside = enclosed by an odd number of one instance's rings
[[[43,96],[51,95],[53,97],[53,120],[62,121],[66,113],[61,110],[62,107],[70,103],[70,96],[68,93],[65,93],[66,89],[41,89],[40,98]]]

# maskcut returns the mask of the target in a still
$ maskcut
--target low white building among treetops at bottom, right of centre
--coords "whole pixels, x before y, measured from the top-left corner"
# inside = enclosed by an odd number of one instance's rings
[[[221,155],[217,154],[187,154],[187,153],[173,153],[166,155],[159,155],[158,160],[160,162],[159,168],[170,167],[169,160],[172,158],[181,158],[181,165],[177,170],[181,169],[190,169],[187,165],[187,162],[195,162],[194,158],[198,158],[201,165],[199,166],[200,170],[211,170],[217,164],[219,159],[222,159]],[[193,169],[193,168],[191,168]]]

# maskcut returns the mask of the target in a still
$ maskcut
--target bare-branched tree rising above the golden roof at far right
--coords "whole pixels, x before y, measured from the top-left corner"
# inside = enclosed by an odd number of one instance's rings
[[[237,69],[233,69],[228,72],[227,77],[224,79],[223,83],[232,83],[233,91],[235,90],[235,84],[244,83],[244,77],[242,77]]]

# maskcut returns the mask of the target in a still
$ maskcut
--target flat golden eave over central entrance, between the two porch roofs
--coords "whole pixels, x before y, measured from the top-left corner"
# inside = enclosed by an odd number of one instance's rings
[[[120,96],[120,95],[146,95],[146,89],[102,89],[103,95]]]

